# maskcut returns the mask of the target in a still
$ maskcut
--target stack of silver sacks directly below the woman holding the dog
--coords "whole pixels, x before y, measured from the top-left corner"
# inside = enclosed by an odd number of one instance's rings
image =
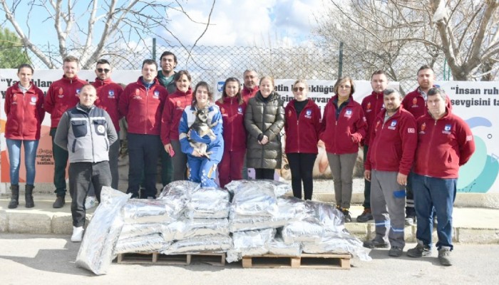
[[[169,225],[168,233],[175,233],[174,242],[161,253],[227,252],[232,247],[227,219],[229,192],[218,187],[190,187],[187,197],[184,215]]]

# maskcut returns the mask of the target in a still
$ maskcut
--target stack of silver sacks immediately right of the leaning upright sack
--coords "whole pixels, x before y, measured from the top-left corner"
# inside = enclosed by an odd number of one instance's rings
[[[187,192],[197,183],[178,181],[167,185],[158,199],[130,199],[122,209],[125,224],[115,254],[160,252],[173,242],[175,222],[187,205]]]

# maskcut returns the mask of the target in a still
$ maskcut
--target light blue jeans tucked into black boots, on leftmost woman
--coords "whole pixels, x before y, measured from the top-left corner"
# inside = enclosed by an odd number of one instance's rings
[[[35,182],[35,160],[38,140],[11,140],[5,139],[9,160],[11,162],[11,185],[19,185],[19,168],[21,167],[21,143],[24,143],[24,164],[26,165],[26,184],[34,185]]]

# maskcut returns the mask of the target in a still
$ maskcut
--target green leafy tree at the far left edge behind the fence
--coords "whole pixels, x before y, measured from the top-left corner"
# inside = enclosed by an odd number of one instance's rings
[[[9,29],[0,29],[0,68],[17,68],[22,63],[29,63],[29,58],[21,40]]]

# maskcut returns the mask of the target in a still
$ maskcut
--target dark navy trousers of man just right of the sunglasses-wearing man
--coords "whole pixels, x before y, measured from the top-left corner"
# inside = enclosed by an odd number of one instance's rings
[[[158,157],[160,155],[160,136],[128,133],[128,190],[127,193],[138,194],[140,180],[144,174],[143,197],[156,196],[156,175],[158,174]]]

